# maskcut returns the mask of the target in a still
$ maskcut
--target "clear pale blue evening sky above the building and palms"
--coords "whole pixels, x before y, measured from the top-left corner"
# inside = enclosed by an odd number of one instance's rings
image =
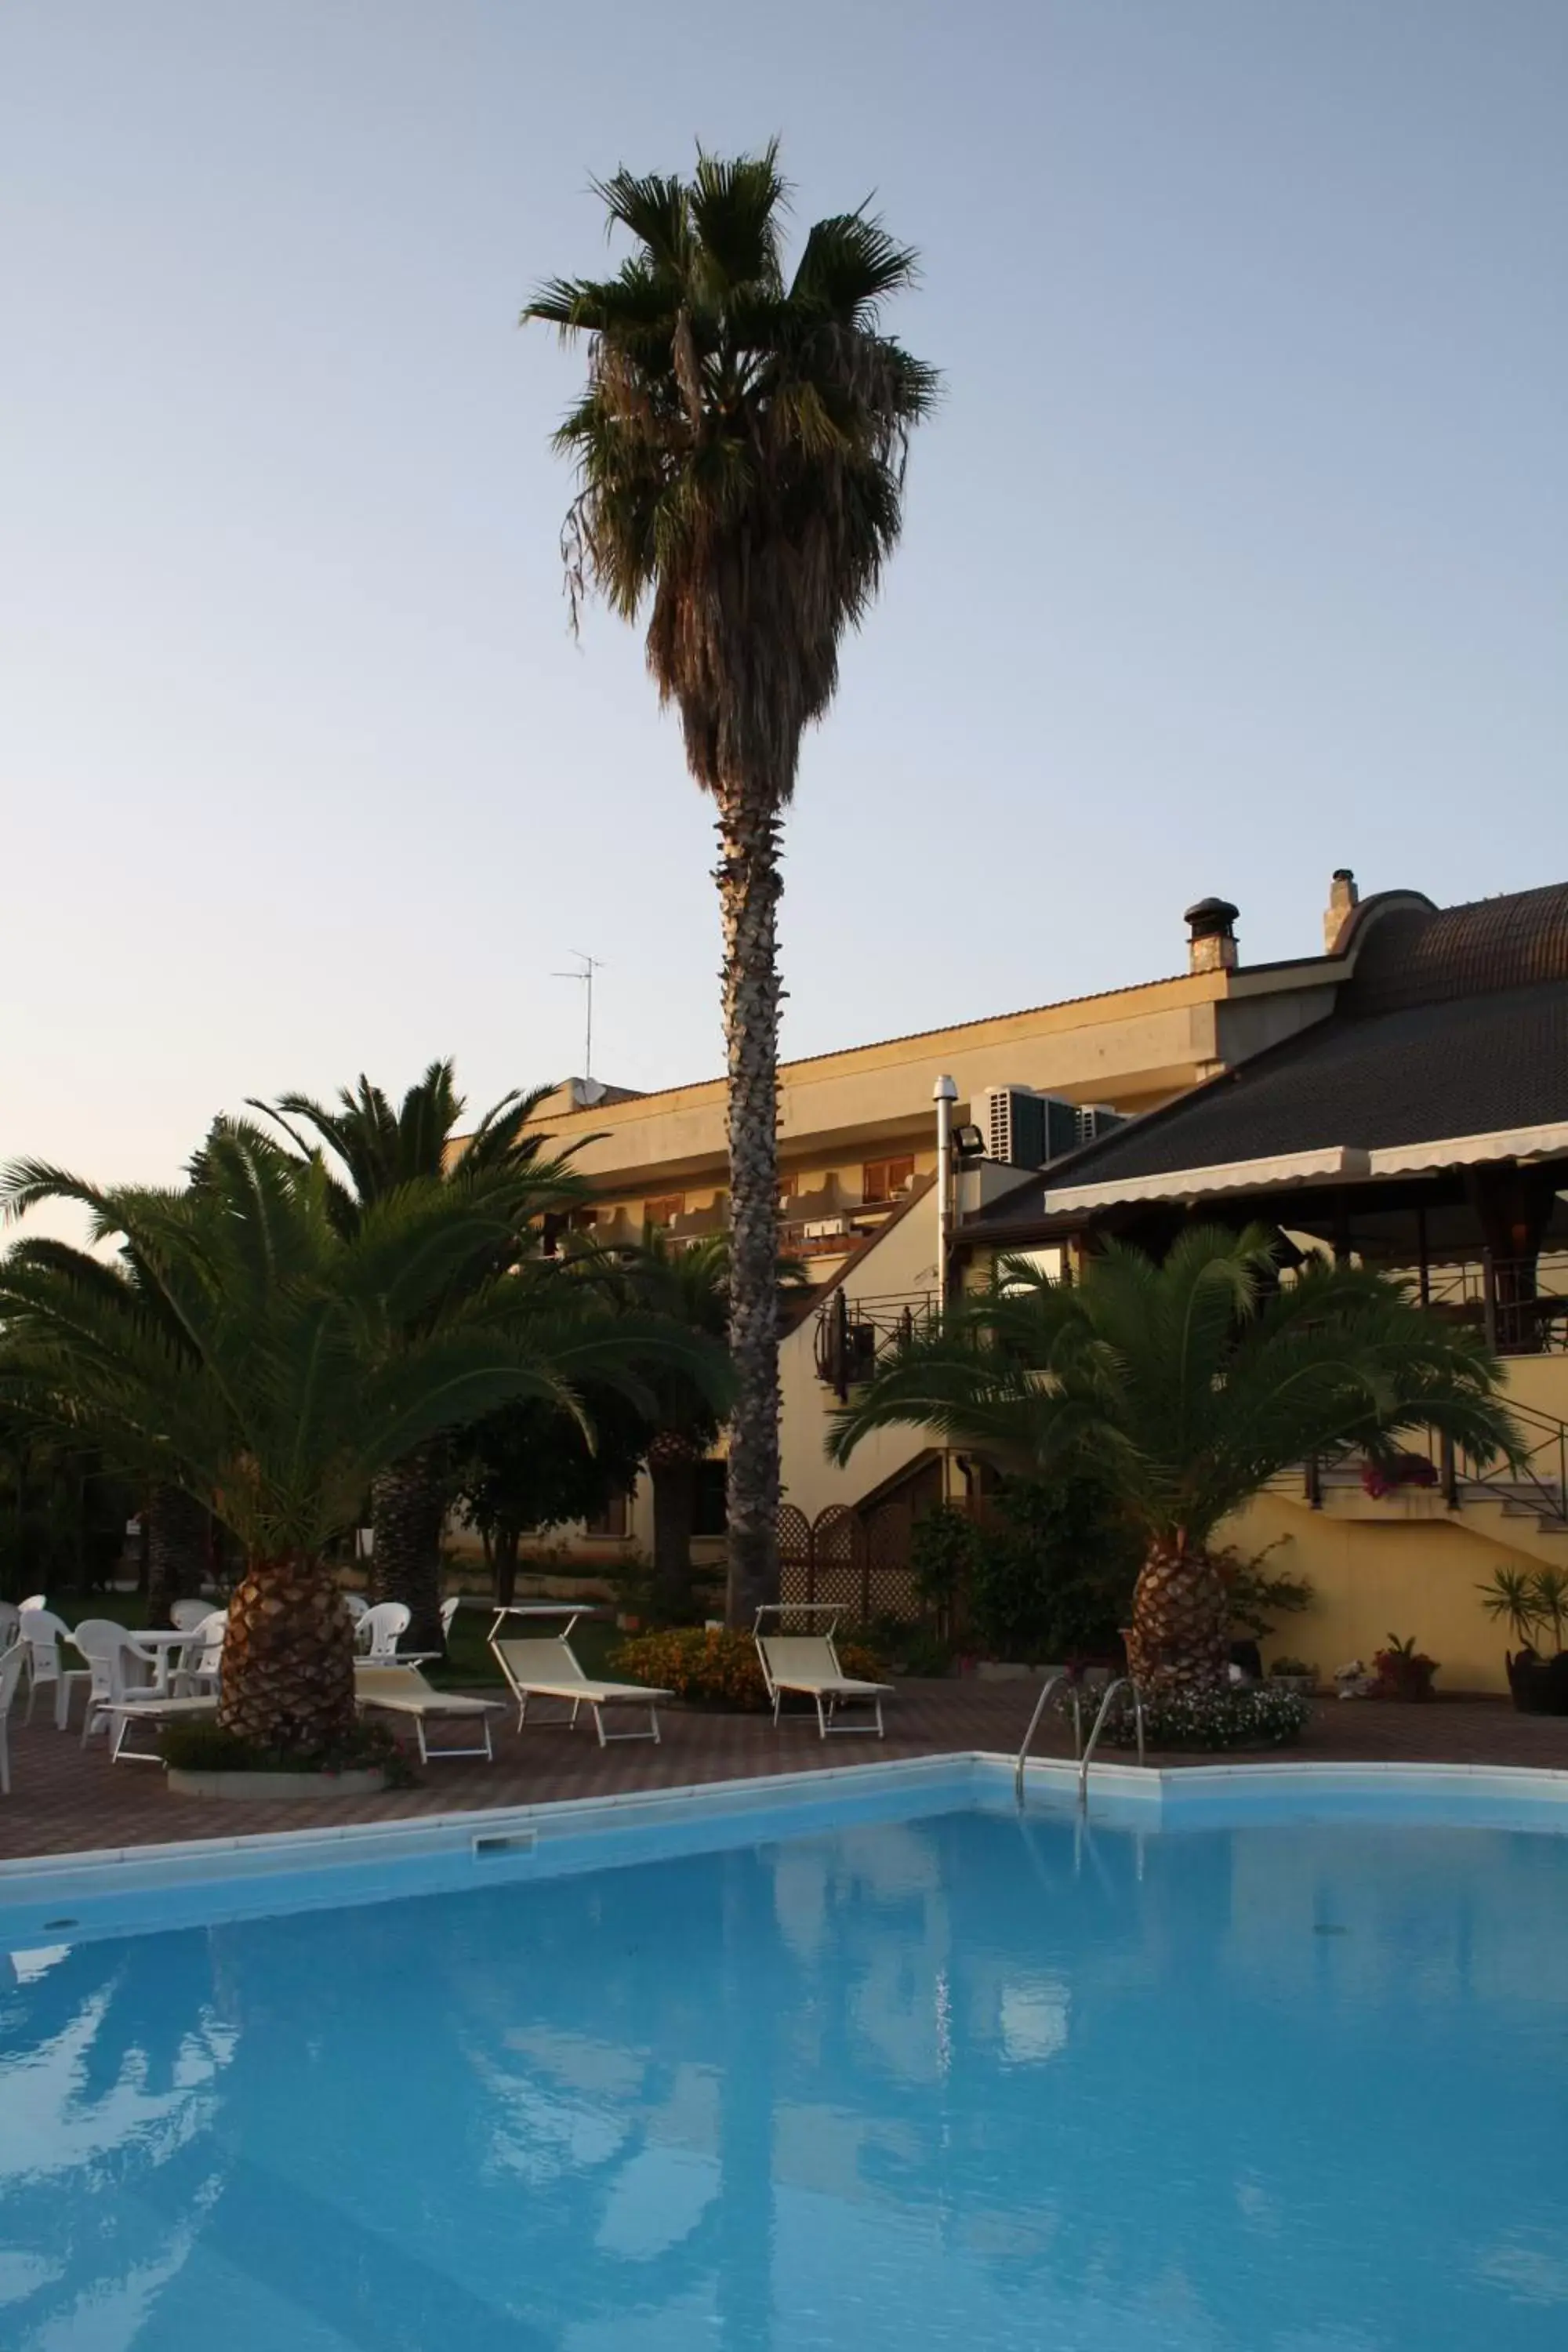
[[[0,1155],[719,1068],[705,802],[574,647],[517,329],[783,136],[947,376],[790,821],[785,1051],[1568,875],[1566,0],[7,0]],[[1004,1073],[999,1073],[1004,1075]]]

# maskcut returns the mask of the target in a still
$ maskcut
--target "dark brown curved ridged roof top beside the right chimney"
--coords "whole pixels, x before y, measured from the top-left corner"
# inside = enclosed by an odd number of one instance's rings
[[[1354,974],[1340,990],[1342,1014],[1389,1014],[1568,981],[1568,882],[1443,908],[1403,891],[1389,898],[1394,903],[1382,908],[1378,898],[1363,901],[1340,943],[1340,953],[1356,950]]]

